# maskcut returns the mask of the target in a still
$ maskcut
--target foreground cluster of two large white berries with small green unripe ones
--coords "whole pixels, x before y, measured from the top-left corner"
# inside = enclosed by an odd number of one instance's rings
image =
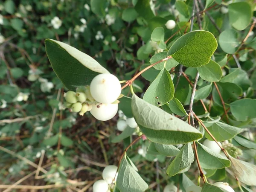
[[[84,115],[87,111],[98,120],[107,121],[116,115],[121,84],[116,76],[102,73],[93,78],[90,86],[65,93],[65,106]]]

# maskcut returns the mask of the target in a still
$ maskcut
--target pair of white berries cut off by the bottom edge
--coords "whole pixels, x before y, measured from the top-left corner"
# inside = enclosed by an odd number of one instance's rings
[[[116,181],[117,175],[117,166],[106,166],[102,172],[103,179],[97,180],[93,184],[93,192],[110,192],[111,184],[113,180]]]

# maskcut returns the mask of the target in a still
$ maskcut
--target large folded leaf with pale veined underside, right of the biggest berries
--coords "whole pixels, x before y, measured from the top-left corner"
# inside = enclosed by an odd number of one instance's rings
[[[131,109],[140,130],[154,143],[174,145],[202,138],[196,128],[135,94],[132,96]]]

